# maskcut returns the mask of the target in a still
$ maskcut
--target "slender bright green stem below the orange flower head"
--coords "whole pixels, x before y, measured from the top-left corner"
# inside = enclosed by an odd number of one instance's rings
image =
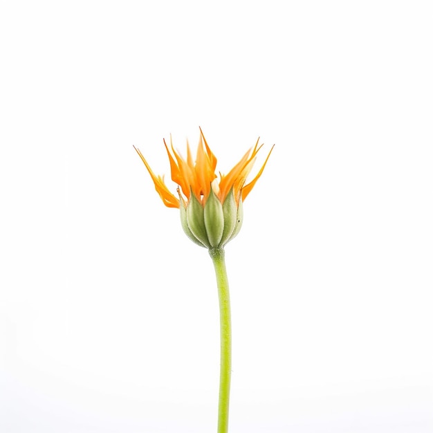
[[[221,332],[221,367],[219,373],[218,433],[228,432],[230,403],[230,376],[232,374],[232,324],[230,320],[230,294],[223,248],[209,250],[214,263],[219,296],[219,326]]]

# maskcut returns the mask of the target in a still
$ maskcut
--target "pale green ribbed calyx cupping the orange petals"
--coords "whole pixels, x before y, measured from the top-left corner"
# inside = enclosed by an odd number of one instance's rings
[[[194,243],[208,249],[222,248],[239,233],[243,219],[242,200],[239,199],[239,205],[236,205],[233,190],[223,204],[212,188],[204,207],[192,192],[190,197],[187,205],[181,199],[181,224]]]

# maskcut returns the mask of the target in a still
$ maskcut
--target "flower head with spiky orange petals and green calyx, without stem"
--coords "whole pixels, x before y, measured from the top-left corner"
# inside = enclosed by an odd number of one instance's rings
[[[242,202],[263,173],[273,148],[255,178],[249,183],[246,184],[246,178],[263,146],[259,146],[259,139],[255,147],[249,149],[228,174],[220,172],[218,179],[215,173],[216,157],[201,129],[200,133],[195,162],[188,143],[185,159],[174,149],[172,140],[170,148],[164,140],[172,181],[178,184],[178,197],[165,185],[164,176],[156,176],[140,150],[136,147],[134,149],[145,163],[163,203],[168,208],[181,210],[181,223],[185,234],[205,248],[222,248],[239,232],[243,215]]]

